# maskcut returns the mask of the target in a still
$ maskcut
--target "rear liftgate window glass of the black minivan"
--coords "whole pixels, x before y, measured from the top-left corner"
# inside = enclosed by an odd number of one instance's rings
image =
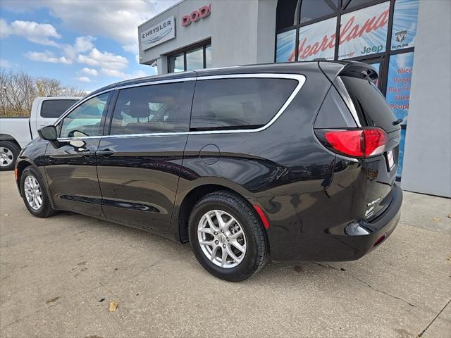
[[[381,127],[385,132],[399,129],[393,125],[396,117],[376,84],[357,77],[340,77],[350,94],[360,123],[368,127]]]

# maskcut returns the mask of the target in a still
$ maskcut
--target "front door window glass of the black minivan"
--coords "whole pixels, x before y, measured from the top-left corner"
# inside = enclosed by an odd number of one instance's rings
[[[104,115],[109,93],[94,96],[73,111],[61,122],[60,137],[99,136],[103,133],[101,118]]]

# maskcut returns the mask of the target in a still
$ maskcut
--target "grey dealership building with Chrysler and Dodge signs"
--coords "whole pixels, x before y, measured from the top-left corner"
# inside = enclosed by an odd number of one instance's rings
[[[450,15],[448,0],[184,0],[138,27],[140,63],[369,63],[402,119],[402,188],[451,197]]]

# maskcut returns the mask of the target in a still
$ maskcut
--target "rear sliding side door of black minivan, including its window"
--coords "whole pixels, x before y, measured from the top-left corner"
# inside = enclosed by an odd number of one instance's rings
[[[194,81],[121,89],[97,152],[106,218],[166,232],[187,142]]]

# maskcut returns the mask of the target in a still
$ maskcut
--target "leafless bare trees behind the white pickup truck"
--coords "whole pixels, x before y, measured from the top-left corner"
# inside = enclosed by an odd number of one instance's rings
[[[38,96],[85,96],[73,87],[64,87],[59,80],[34,78],[24,70],[0,68],[0,115],[30,116],[33,101]]]

